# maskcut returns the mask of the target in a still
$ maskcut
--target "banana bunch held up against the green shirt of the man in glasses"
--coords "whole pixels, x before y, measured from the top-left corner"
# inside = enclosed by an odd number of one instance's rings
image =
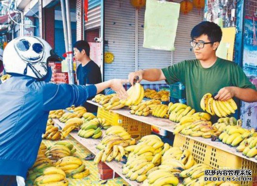
[[[209,114],[216,114],[218,117],[226,117],[231,113],[235,113],[237,104],[231,98],[227,101],[219,101],[214,99],[214,95],[206,93],[200,102],[200,106],[203,110],[206,110]]]

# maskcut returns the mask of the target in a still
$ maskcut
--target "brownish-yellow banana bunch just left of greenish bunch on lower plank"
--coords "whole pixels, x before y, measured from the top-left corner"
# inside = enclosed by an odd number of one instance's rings
[[[64,140],[64,138],[66,138],[68,136],[68,134],[74,130],[74,129],[77,129],[79,130],[80,129],[80,126],[83,124],[83,120],[80,119],[80,118],[71,118],[71,119],[68,119],[66,122],[65,122],[65,125],[64,125],[64,128],[62,130],[62,140]]]

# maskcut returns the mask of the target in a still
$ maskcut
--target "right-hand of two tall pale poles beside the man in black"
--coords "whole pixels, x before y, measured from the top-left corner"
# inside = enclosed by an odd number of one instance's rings
[[[69,5],[69,0],[65,0],[65,5],[66,5],[66,18],[67,18],[67,31],[68,31],[68,50],[72,51],[72,38],[71,38],[71,23],[70,23],[70,5]],[[68,72],[68,77],[69,77],[69,84],[74,84],[74,76],[73,76],[73,55],[68,54],[68,62],[69,62],[69,72]]]

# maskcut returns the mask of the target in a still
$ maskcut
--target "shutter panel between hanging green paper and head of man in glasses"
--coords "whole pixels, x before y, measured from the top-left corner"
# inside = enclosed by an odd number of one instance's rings
[[[179,1],[176,0],[176,2]],[[176,49],[174,51],[174,63],[184,60],[195,59],[193,50],[190,50],[190,33],[193,27],[201,21],[203,21],[203,11],[199,12],[195,7],[187,15],[184,15],[182,13],[179,14],[177,36],[175,40]]]

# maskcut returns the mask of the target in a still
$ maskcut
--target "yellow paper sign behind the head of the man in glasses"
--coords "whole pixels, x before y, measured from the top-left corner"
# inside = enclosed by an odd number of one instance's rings
[[[222,28],[221,43],[216,51],[219,58],[233,61],[236,28]]]

